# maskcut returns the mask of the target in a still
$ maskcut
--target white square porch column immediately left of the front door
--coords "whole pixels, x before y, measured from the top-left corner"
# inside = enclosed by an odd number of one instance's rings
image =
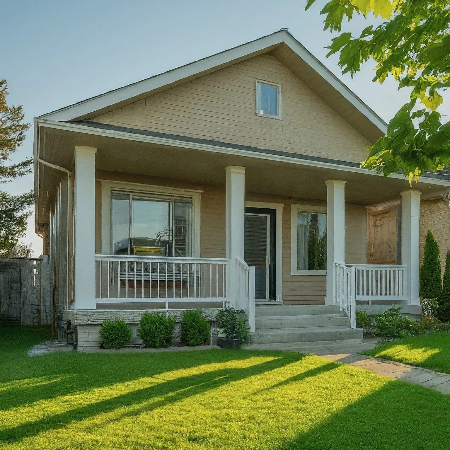
[[[226,257],[230,259],[229,293],[231,304],[238,305],[236,258],[244,259],[245,167],[227,166],[226,174]]]

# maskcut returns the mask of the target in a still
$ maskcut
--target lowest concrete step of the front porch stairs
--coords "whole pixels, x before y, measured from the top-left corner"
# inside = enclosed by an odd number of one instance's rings
[[[285,329],[257,329],[250,335],[253,344],[272,344],[281,342],[319,342],[340,341],[343,339],[362,339],[362,329],[348,327],[305,327]]]

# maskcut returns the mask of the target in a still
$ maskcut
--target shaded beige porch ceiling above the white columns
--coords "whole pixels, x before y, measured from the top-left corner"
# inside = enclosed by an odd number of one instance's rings
[[[97,148],[97,170],[152,175],[198,184],[223,185],[226,166],[245,166],[246,191],[252,193],[324,200],[325,181],[338,179],[347,181],[347,202],[371,205],[399,198],[401,191],[409,189],[407,179],[383,179],[379,175],[351,172],[344,168],[270,161],[254,157],[250,152],[248,157],[238,156],[50,128],[41,133],[40,157],[71,168],[75,145]],[[51,193],[60,176],[61,173],[44,169],[40,164],[40,196],[46,197],[47,192]],[[414,189],[430,197],[438,196],[442,187],[420,182]]]

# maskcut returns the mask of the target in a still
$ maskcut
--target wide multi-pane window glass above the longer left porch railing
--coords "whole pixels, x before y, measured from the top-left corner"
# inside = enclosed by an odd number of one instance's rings
[[[111,191],[112,254],[192,256],[192,198]]]

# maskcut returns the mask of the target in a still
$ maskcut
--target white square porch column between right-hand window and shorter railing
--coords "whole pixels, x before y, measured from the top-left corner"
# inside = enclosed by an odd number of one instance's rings
[[[327,185],[327,295],[325,305],[336,302],[335,262],[345,262],[345,181],[328,180]]]

